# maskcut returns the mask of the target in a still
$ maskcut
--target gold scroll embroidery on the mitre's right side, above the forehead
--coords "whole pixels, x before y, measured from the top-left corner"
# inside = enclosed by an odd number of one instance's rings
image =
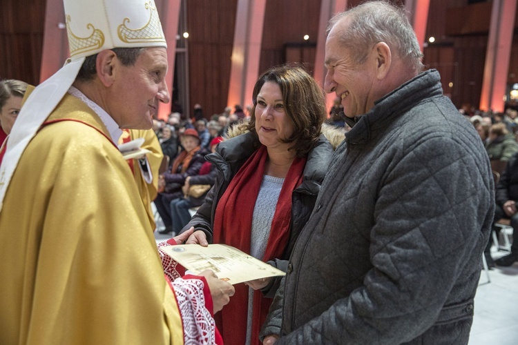
[[[126,43],[146,43],[146,42],[165,42],[160,19],[158,18],[157,8],[153,7],[153,2],[146,3],[146,9],[151,12],[149,21],[142,28],[132,30],[126,26],[130,22],[129,18],[124,18],[124,23],[117,28],[119,39]]]

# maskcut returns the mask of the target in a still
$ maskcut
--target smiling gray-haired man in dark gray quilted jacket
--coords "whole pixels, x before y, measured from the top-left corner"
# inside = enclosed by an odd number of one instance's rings
[[[335,152],[262,329],[265,344],[467,344],[494,213],[473,126],[443,96],[399,8],[338,14],[325,90],[341,98]]]

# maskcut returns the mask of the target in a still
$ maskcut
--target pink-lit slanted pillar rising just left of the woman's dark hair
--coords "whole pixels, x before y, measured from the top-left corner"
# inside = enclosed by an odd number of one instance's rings
[[[227,106],[251,103],[259,76],[266,0],[238,0]]]

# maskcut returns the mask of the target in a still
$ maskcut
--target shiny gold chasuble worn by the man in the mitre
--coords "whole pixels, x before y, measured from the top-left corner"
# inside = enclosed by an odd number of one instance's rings
[[[183,344],[128,164],[81,101],[60,118],[76,121],[32,139],[0,213],[0,344]]]

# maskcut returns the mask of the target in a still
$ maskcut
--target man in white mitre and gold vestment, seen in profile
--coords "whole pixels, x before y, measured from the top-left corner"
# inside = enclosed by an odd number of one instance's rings
[[[64,12],[70,59],[26,91],[0,166],[0,344],[220,342],[212,314],[233,287],[209,270],[164,279],[116,145],[170,100],[155,3]]]

